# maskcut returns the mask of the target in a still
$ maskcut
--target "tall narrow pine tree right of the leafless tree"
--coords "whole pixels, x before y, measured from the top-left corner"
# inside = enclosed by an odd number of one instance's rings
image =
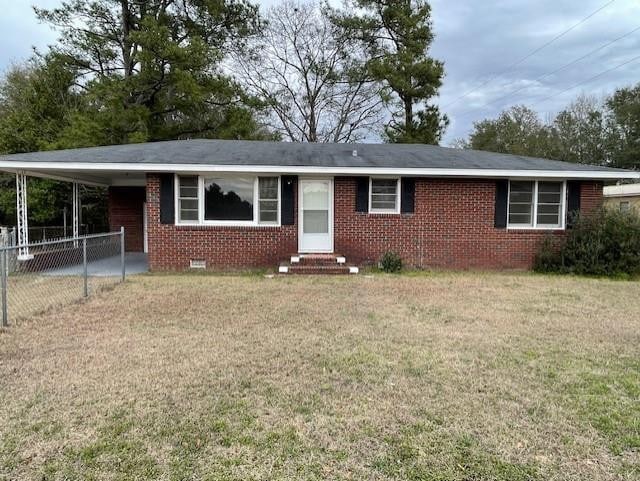
[[[437,144],[448,118],[429,101],[438,93],[444,64],[429,56],[434,34],[426,0],[352,0],[351,8],[334,10],[343,35],[362,42],[366,67],[391,92],[394,107],[386,140]],[[357,13],[352,13],[353,11]]]

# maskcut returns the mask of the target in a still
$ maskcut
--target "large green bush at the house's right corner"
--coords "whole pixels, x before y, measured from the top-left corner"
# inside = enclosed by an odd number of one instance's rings
[[[546,239],[534,269],[596,276],[640,275],[640,216],[602,210],[579,216],[559,246]]]

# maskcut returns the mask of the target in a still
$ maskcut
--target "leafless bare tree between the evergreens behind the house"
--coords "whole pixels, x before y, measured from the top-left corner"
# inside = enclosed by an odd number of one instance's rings
[[[285,0],[234,58],[238,81],[269,107],[269,124],[297,142],[354,142],[380,125],[381,86],[355,44],[341,38],[322,6]]]

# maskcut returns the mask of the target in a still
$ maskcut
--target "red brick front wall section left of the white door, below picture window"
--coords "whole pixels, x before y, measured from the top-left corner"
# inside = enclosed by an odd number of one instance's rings
[[[152,174],[147,176],[147,216],[151,270],[184,270],[191,259],[204,259],[215,269],[276,267],[298,250],[297,215],[294,225],[281,227],[160,224],[160,179]]]

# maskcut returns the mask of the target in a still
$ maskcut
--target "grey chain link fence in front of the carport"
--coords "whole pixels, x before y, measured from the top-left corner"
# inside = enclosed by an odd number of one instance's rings
[[[124,281],[124,230],[0,247],[2,326]]]

